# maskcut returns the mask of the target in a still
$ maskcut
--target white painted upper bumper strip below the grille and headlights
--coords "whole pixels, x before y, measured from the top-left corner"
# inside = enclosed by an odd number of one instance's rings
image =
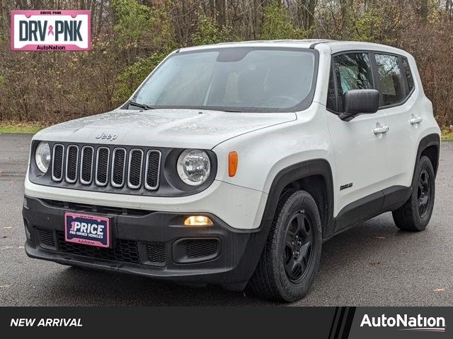
[[[81,191],[57,186],[43,186],[25,177],[25,195],[47,200],[89,203],[96,206],[137,208],[161,212],[204,212],[217,215],[230,227],[253,230],[261,225],[268,194],[214,180],[204,191],[190,196],[133,196],[95,191]]]

